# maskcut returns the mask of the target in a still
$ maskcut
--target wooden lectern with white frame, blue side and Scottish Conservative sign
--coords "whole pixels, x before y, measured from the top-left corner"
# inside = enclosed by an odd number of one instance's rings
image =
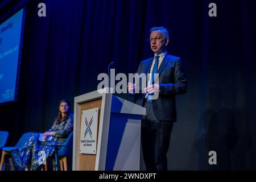
[[[73,170],[139,170],[141,154],[141,115],[146,109],[108,93],[109,88],[75,97]],[[96,154],[81,153],[81,142],[89,141],[93,130],[82,113],[98,108]],[[84,125],[81,125],[85,122]],[[81,134],[81,126],[86,130]],[[85,148],[86,149],[86,148]]]

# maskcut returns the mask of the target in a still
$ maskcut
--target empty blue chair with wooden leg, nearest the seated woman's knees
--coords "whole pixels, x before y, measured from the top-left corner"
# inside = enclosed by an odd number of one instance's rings
[[[22,137],[20,137],[18,143],[14,147],[3,147],[2,148],[2,156],[1,156],[1,163],[0,163],[0,171],[2,170],[2,166],[5,167],[5,155],[10,154],[10,150],[18,148],[21,150],[26,143],[26,141],[32,136],[32,132],[24,133]]]

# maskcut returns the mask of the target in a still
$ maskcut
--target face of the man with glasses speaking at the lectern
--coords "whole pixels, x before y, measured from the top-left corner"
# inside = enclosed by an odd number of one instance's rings
[[[150,39],[150,47],[154,53],[159,55],[166,50],[169,39],[167,39],[161,31],[152,31],[150,34]]]

